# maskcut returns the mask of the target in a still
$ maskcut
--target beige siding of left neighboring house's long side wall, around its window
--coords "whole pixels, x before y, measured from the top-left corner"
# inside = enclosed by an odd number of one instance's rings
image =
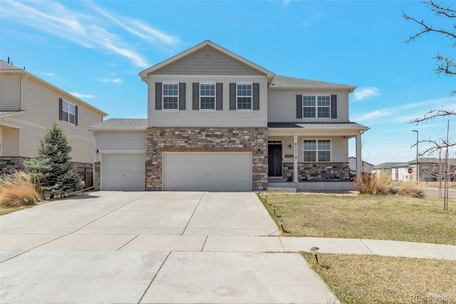
[[[55,121],[63,128],[73,147],[73,151],[70,153],[73,161],[93,162],[94,137],[86,128],[102,121],[101,113],[27,77],[21,79],[21,96],[21,110],[26,110],[26,112],[8,117],[10,124],[21,127],[19,156],[33,157],[38,145],[38,138]],[[59,98],[78,106],[78,126],[59,121]]]

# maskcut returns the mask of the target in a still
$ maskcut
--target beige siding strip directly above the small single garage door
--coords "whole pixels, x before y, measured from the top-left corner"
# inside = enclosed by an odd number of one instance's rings
[[[97,150],[146,150],[146,131],[97,131]]]

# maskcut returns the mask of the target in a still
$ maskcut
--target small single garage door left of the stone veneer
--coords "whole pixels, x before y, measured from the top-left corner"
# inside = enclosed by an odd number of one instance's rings
[[[144,190],[145,154],[103,154],[101,190]]]

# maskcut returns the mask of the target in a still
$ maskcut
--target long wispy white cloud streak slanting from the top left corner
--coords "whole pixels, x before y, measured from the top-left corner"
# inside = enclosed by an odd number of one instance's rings
[[[98,17],[71,10],[58,2],[2,1],[1,18],[10,18],[84,47],[118,54],[129,58],[137,67],[150,66],[145,57],[131,47],[132,43],[124,42],[123,37],[100,26]]]

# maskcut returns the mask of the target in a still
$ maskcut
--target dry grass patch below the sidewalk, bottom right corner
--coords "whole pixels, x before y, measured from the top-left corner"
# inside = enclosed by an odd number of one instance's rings
[[[316,265],[311,253],[301,255],[344,304],[410,303],[410,295],[456,299],[456,261],[320,253]]]

